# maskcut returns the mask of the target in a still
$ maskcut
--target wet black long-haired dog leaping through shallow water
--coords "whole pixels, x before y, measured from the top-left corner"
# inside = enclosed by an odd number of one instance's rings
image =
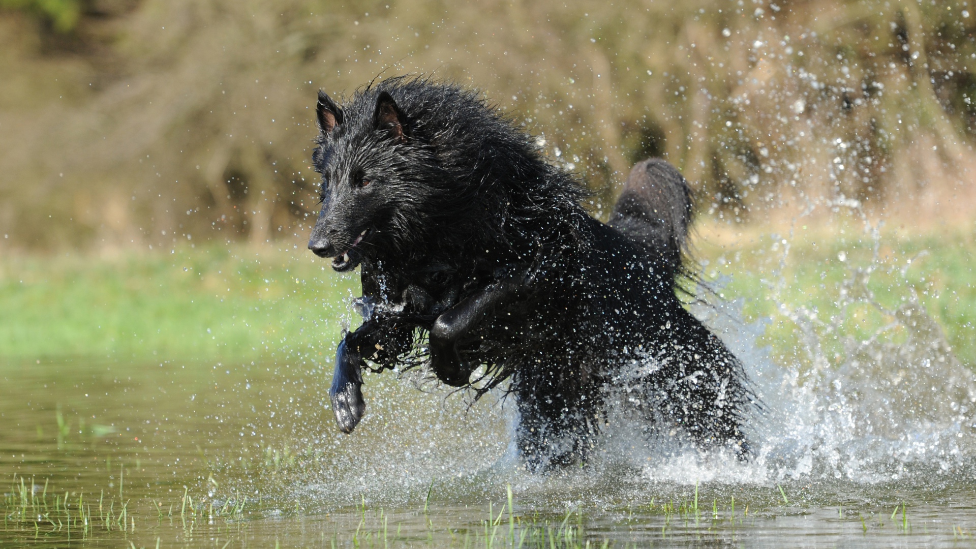
[[[323,204],[308,247],[337,271],[362,266],[364,322],[339,346],[330,392],[341,430],[365,411],[366,360],[409,366],[420,350],[448,385],[510,379],[534,470],[584,459],[624,397],[655,433],[745,455],[742,365],[675,295],[691,195],[671,165],[638,164],[604,225],[472,91],[393,78],[344,106],[320,92],[317,118]]]

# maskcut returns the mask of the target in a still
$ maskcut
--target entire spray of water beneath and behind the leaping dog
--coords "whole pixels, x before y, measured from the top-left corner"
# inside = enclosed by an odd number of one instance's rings
[[[790,253],[789,245],[780,249]],[[291,420],[274,419],[268,426],[279,429],[264,430],[266,439],[290,444],[287,459],[275,461],[277,454],[269,453],[232,486],[311,508],[337,508],[362,500],[414,504],[431,489],[442,501],[483,502],[510,484],[523,501],[559,507],[648,499],[662,491],[684,494],[698,483],[863,489],[972,473],[976,377],[956,359],[911,284],[874,295],[874,275],[887,269],[904,279],[910,265],[886,266],[877,255],[876,246],[869,258],[845,253],[847,272],[835,296],[839,313],[826,318],[809,303],[778,296],[775,317],[752,323],[741,319],[742,300],[692,306],[742,359],[762,402],[746,421],[754,451],[748,462],[724,450],[701,453],[667,434],[648,435],[622,406],[609,414],[610,427],[586,467],[530,475],[512,443],[512,402],[490,394],[472,403],[470,395],[431,385],[429,372],[418,368],[366,376],[369,411],[352,436],[333,431],[319,391],[324,382],[303,384],[307,395],[278,410],[279,418]],[[795,281],[782,276],[776,283]],[[880,327],[851,330],[851,318],[863,317],[866,309],[883,319]],[[795,327],[792,359],[774,359],[759,343],[774,321]],[[318,367],[331,369],[327,361]]]

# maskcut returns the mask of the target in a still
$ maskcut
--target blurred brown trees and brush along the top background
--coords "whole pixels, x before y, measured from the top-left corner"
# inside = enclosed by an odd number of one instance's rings
[[[64,248],[306,232],[314,92],[483,90],[606,209],[678,165],[749,222],[976,210],[968,0],[0,0],[0,240]]]

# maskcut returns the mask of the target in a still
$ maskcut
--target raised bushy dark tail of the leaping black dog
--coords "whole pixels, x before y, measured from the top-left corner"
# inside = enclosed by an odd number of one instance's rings
[[[640,244],[669,276],[682,274],[691,225],[691,188],[661,158],[638,162],[610,214],[610,227]]]

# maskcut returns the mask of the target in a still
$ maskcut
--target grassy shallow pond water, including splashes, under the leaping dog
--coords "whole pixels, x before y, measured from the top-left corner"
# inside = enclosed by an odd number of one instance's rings
[[[932,375],[894,384],[812,380],[732,334],[764,402],[752,462],[624,422],[588,466],[545,477],[512,457],[510,404],[422,374],[368,375],[346,436],[328,364],[301,356],[7,362],[0,546],[976,545],[968,368],[926,355]]]

